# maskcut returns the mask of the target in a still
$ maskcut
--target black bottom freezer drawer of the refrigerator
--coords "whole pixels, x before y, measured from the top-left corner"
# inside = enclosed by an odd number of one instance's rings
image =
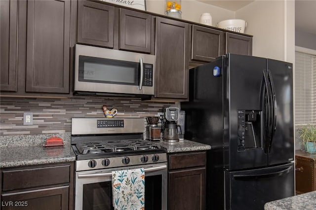
[[[267,202],[294,196],[294,163],[225,171],[225,210],[263,210]]]

